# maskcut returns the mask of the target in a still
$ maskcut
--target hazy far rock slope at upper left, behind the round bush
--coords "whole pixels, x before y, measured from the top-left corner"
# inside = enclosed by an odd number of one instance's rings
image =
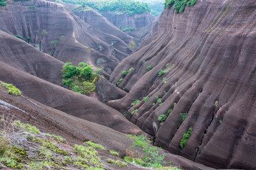
[[[63,62],[104,67],[106,77],[132,50],[132,38],[117,38],[82,21],[63,4],[8,1],[0,7],[0,30],[20,35],[38,50]]]

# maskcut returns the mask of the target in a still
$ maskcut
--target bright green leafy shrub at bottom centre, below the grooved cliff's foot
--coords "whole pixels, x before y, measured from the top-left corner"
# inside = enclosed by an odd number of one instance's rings
[[[132,142],[132,148],[142,148],[142,152],[144,153],[143,161],[146,162],[146,166],[160,168],[162,164],[166,164],[163,161],[165,154],[159,154],[159,151],[156,147],[151,147],[150,140],[148,140],[144,135],[140,135],[139,137],[135,135],[128,135]]]

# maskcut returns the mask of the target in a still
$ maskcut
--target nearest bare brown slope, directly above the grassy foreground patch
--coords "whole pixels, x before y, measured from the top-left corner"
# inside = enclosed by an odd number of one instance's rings
[[[1,81],[0,81],[1,83]],[[23,123],[36,125],[42,132],[50,132],[55,135],[65,137],[68,142],[82,144],[91,140],[92,142],[103,145],[106,149],[119,152],[123,157],[127,148],[131,145],[131,140],[126,134],[113,130],[97,123],[76,118],[72,115],[63,113],[54,108],[33,101],[28,96],[11,96],[4,87],[0,86],[0,115],[4,115],[6,120],[21,120]],[[160,150],[161,153],[164,153]],[[99,152],[102,157],[113,157],[110,153]],[[191,162],[183,157],[174,154],[166,154],[166,161],[183,169],[213,170],[201,164]],[[115,157],[114,159],[117,159]],[[121,169],[114,167],[114,169]],[[127,168],[122,169],[144,169],[134,164],[128,164]]]

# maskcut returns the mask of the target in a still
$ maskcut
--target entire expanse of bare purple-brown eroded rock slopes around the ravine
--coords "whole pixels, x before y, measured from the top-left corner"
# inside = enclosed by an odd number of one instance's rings
[[[105,18],[110,11],[6,1],[0,80],[23,96],[0,89],[1,101],[29,114],[3,102],[0,113],[122,155],[131,145],[124,134],[148,135],[184,169],[255,169],[256,2],[203,0],[180,13],[175,3],[159,21],[113,16],[142,24],[128,35]],[[62,87],[65,62],[103,68],[91,97]]]

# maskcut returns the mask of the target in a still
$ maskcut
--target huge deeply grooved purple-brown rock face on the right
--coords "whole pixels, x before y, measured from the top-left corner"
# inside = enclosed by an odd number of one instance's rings
[[[254,0],[198,1],[180,14],[166,8],[157,32],[111,74],[116,84],[134,68],[119,84],[129,94],[109,106],[124,113],[142,100],[127,118],[171,153],[215,168],[256,169],[255,18]]]

